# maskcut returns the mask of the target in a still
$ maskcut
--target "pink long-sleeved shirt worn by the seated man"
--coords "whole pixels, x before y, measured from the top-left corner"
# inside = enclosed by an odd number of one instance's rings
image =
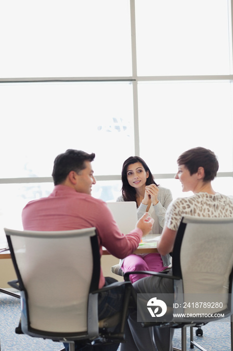
[[[47,198],[30,201],[22,210],[24,230],[57,231],[95,227],[99,253],[102,246],[117,257],[130,255],[138,246],[142,231],[133,229],[123,235],[106,204],[88,194],[77,193],[67,186],[55,186]],[[105,283],[100,271],[99,288]]]

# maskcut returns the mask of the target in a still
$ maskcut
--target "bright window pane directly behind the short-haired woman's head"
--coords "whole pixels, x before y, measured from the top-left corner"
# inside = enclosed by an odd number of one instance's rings
[[[232,171],[230,83],[138,84],[140,155],[153,173],[175,173],[179,154],[202,146]]]

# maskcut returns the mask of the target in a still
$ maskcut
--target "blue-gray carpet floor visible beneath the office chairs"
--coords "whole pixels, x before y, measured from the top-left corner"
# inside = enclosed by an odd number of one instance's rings
[[[20,317],[19,299],[0,293],[0,350],[1,351],[59,351],[62,343],[15,334]],[[218,321],[204,325],[203,336],[194,339],[207,351],[230,351],[230,322]],[[195,330],[195,328],[194,328]],[[180,347],[180,329],[175,329],[173,346]],[[195,335],[195,332],[194,332]],[[187,338],[189,329],[187,329]],[[187,341],[187,349],[189,344]],[[193,350],[193,349],[192,349]],[[194,350],[197,350],[194,347]],[[149,350],[148,350],[149,351]]]

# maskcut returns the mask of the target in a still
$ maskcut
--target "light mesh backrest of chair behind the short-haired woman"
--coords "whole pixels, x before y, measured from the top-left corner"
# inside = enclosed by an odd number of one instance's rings
[[[172,266],[173,274],[182,277],[184,293],[231,293],[233,218],[184,216]]]

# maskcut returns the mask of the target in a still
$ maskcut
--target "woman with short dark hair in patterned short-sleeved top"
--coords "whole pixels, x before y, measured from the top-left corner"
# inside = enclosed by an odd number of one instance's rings
[[[216,193],[211,181],[216,177],[218,161],[215,154],[204,148],[195,147],[183,152],[177,159],[178,171],[175,179],[182,191],[192,191],[193,196],[177,198],[166,211],[165,225],[157,244],[158,252],[172,252],[176,232],[182,216],[232,218],[233,203],[225,195]],[[168,275],[171,272],[167,273]],[[136,293],[173,293],[172,279],[150,276],[133,284]],[[136,311],[129,314],[125,330],[125,343],[120,351],[172,351],[173,328],[142,328],[136,321]]]

